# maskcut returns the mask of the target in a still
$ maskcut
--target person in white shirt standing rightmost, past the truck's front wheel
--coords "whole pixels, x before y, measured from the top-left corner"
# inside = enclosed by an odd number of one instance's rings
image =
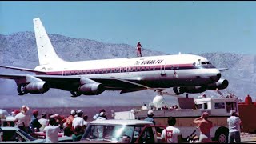
[[[240,137],[241,120],[235,110],[230,110],[230,114],[231,114],[230,118],[227,118],[227,123],[229,125],[228,142],[234,143],[234,140],[235,140],[236,143],[239,143],[241,142],[241,137]]]

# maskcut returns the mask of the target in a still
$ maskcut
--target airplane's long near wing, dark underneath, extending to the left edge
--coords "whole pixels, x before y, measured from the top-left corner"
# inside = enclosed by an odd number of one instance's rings
[[[17,86],[30,82],[49,82],[50,88],[61,90],[78,90],[79,86],[84,83],[98,82],[106,88],[106,90],[146,90],[150,87],[140,85],[130,80],[121,78],[106,77],[106,78],[86,78],[82,75],[62,76],[62,75],[41,75],[41,74],[0,74],[0,78],[14,79]]]

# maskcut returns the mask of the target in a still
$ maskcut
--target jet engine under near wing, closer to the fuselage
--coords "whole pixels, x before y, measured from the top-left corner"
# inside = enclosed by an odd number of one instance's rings
[[[98,95],[103,91],[105,88],[101,83],[87,83],[78,88],[78,92],[85,95]]]

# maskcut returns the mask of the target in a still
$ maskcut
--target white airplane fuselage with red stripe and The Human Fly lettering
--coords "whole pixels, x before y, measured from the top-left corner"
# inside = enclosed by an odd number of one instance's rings
[[[35,70],[44,70],[47,75],[122,78],[146,82],[150,87],[202,86],[220,78],[219,70],[206,58],[193,54],[62,62],[37,66]]]

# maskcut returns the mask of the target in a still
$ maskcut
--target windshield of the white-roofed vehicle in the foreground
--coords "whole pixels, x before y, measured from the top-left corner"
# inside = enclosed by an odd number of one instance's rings
[[[144,126],[90,125],[82,140],[135,142]]]

